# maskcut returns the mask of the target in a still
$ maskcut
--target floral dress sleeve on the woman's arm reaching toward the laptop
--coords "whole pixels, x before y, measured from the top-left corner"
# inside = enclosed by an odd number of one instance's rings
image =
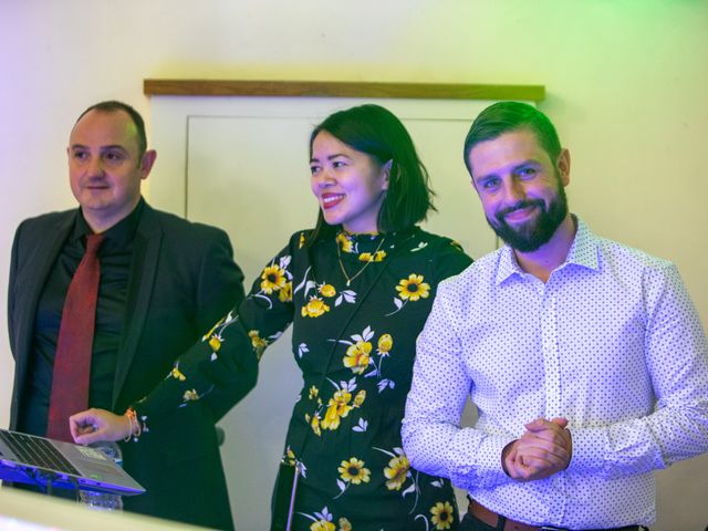
[[[144,427],[155,427],[175,408],[209,396],[226,396],[233,405],[256,385],[263,351],[293,319],[295,247],[285,247],[270,260],[246,299],[179,356],[152,393],[134,404]]]

